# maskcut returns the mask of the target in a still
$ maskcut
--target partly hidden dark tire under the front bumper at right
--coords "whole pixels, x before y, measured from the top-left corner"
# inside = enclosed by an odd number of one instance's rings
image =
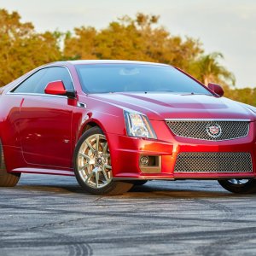
[[[224,179],[218,180],[218,183],[226,190],[237,194],[256,193],[255,179]]]

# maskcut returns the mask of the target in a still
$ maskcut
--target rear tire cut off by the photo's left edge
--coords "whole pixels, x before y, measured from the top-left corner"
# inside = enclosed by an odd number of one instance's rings
[[[0,142],[0,187],[15,187],[20,180],[20,173],[6,172],[3,147]]]

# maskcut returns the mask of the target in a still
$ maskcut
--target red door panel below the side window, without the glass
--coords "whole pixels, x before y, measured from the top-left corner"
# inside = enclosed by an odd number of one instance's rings
[[[66,97],[26,96],[18,127],[26,163],[72,168],[72,119]]]

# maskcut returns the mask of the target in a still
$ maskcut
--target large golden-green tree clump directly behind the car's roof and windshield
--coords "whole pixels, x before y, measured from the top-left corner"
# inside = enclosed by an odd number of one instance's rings
[[[200,42],[172,36],[158,21],[158,16],[139,13],[135,19],[124,16],[98,32],[75,28],[67,33],[65,58],[155,61],[188,69],[203,52]]]

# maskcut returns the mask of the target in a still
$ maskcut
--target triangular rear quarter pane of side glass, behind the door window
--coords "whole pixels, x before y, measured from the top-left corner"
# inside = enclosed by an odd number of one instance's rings
[[[38,70],[38,72],[33,73],[32,76],[22,82],[15,90],[12,90],[12,92],[35,93],[37,84],[40,83],[46,72],[46,68]]]

